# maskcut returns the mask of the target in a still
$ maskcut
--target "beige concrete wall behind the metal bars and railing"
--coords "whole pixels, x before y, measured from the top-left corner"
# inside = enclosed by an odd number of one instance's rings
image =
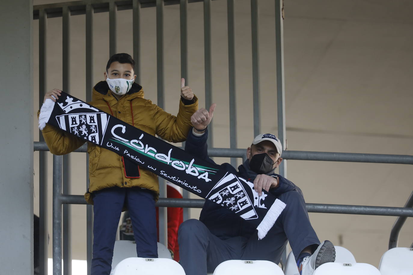
[[[35,0],[34,4],[46,2],[54,1]],[[205,102],[202,7],[202,3],[188,5],[189,83],[199,97],[200,106]],[[239,148],[246,148],[253,139],[250,1],[237,0],[235,7],[237,142]],[[261,129],[276,134],[275,8],[272,0],[259,1],[259,7]],[[285,1],[289,150],[413,155],[413,19],[408,12],[412,8],[411,2],[403,0]],[[226,1],[213,1],[211,9],[213,100],[218,104],[214,113],[214,145],[229,147]],[[131,11],[118,13],[118,52],[132,53],[131,15]],[[142,70],[138,82],[144,87],[145,97],[156,103],[155,9],[142,9],[141,17]],[[50,90],[62,87],[62,23],[59,18],[47,22],[47,90]],[[164,22],[165,109],[176,113],[180,88],[178,6],[165,7]],[[34,24],[34,68],[37,68],[38,21]],[[84,26],[85,16],[72,16],[70,92],[81,99],[85,98]],[[95,14],[95,82],[103,80],[109,57],[108,30],[108,14]],[[36,73],[34,80],[36,88]],[[38,108],[38,103],[34,106]],[[33,123],[36,128],[37,120]],[[84,154],[73,153],[71,160],[74,171],[71,193],[83,194]],[[289,161],[287,175],[301,187],[306,201],[312,203],[401,207],[412,191],[409,165]],[[49,186],[51,202],[51,181]],[[36,201],[35,212],[37,209]],[[199,209],[192,209],[191,215],[197,218]],[[375,266],[387,250],[395,221],[394,217],[314,213],[310,213],[310,218],[320,239],[342,245],[353,252],[357,261]],[[72,221],[73,258],[85,259],[84,206],[72,206]],[[401,231],[400,246],[411,244],[412,232],[413,221],[408,219]],[[51,251],[50,244],[49,255]]]

